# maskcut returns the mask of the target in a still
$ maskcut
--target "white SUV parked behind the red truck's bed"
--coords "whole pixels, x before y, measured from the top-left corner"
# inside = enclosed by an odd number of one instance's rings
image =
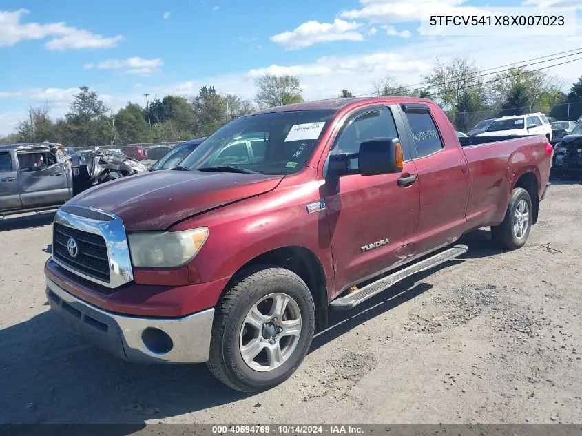
[[[493,121],[484,133],[477,136],[527,136],[527,135],[543,135],[552,139],[552,126],[548,118],[544,114],[537,112],[536,114],[526,115],[512,115],[503,116]]]

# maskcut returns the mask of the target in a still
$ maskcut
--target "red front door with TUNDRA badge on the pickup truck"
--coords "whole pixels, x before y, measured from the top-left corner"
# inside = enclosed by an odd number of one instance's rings
[[[360,143],[371,138],[401,138],[404,168],[399,174],[326,177],[322,190],[337,291],[415,255],[420,203],[418,183],[399,186],[397,181],[416,174],[399,112],[386,106],[368,107],[353,114],[344,126],[330,154],[357,153]],[[355,167],[357,159],[351,160],[351,168]]]

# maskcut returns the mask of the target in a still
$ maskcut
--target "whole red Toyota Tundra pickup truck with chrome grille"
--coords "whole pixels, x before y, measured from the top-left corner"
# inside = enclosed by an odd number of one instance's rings
[[[491,226],[499,247],[526,242],[548,186],[547,138],[461,141],[417,98],[238,118],[172,170],[63,205],[48,301],[123,359],[207,362],[232,388],[270,388],[330,310],[459,256],[463,233]]]

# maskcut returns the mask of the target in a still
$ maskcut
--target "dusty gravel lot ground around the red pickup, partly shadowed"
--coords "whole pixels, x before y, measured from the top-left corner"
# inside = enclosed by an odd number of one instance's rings
[[[552,185],[523,249],[470,233],[460,260],[334,314],[258,395],[76,338],[45,299],[51,220],[0,222],[2,423],[582,422],[582,185]]]

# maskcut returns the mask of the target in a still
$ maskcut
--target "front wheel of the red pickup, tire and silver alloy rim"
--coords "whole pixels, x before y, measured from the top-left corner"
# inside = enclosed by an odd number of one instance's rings
[[[309,351],[313,297],[297,274],[269,265],[244,269],[232,283],[216,307],[207,366],[233,389],[264,391],[287,380]],[[284,315],[275,320],[277,313]]]

